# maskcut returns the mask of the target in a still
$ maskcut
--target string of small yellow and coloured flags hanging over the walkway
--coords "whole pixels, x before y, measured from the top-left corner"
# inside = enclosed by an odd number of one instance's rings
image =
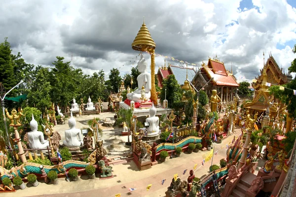
[[[229,142],[229,144],[230,144],[230,142]],[[226,144],[226,146],[227,146],[227,144]],[[193,166],[194,172],[196,172],[200,167],[204,166],[204,164],[205,164],[206,162],[210,161],[211,158],[213,157],[213,155],[217,155],[217,154],[218,154],[218,151],[215,151],[215,152],[214,152],[214,149],[212,149],[211,152],[209,153],[209,155],[206,156],[205,159],[202,160],[201,165],[200,165],[199,167],[197,167],[198,164],[194,164],[194,166]],[[205,155],[203,155],[203,157],[204,157],[204,156],[205,156]],[[187,172],[187,170],[188,170],[188,168],[185,169],[185,170],[183,170],[182,174],[185,175],[185,173]],[[171,176],[170,176],[170,177],[171,177]],[[160,184],[163,185],[163,184],[165,183],[166,179],[169,179],[170,177],[163,178],[163,179],[160,181]],[[173,177],[174,177],[174,180],[176,181],[176,180],[178,179],[178,173],[174,174]],[[157,182],[158,182],[158,181],[156,181],[156,182],[152,182],[151,184],[147,185],[146,190],[149,191],[149,189],[152,187],[152,184],[157,183]],[[158,182],[158,183],[159,183],[159,182]],[[133,192],[133,191],[135,191],[135,190],[137,190],[137,188],[128,188],[128,191],[129,191],[129,192],[127,192],[127,193]],[[125,193],[123,193],[123,194],[125,194]],[[109,197],[113,197],[113,196],[109,196]],[[121,193],[119,193],[119,194],[115,194],[115,197],[121,197]]]

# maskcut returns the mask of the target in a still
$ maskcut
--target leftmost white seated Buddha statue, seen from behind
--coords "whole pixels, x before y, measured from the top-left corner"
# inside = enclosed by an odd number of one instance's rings
[[[49,142],[44,139],[43,132],[37,131],[38,123],[32,114],[32,121],[30,122],[31,131],[28,132],[29,147],[32,149],[43,149],[49,146]]]

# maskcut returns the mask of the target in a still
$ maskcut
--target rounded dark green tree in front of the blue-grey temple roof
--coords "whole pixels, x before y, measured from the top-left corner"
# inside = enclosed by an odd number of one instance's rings
[[[168,107],[172,108],[174,106],[180,107],[180,102],[182,100],[182,89],[175,78],[175,75],[168,75],[167,78],[162,81],[162,89],[160,91],[160,100],[163,102],[165,99],[165,89],[166,89],[166,99],[168,100]]]

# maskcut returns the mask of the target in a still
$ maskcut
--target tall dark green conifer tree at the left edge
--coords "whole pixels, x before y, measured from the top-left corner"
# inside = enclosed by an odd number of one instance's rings
[[[10,43],[7,41],[7,37],[5,37],[4,42],[0,44],[0,82],[4,86],[6,92],[18,83],[13,71],[11,51]],[[7,96],[14,97],[16,96],[15,93],[16,90],[13,90]]]

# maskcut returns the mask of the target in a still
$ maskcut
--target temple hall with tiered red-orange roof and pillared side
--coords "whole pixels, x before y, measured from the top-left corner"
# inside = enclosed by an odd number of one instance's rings
[[[217,90],[217,95],[222,100],[232,100],[237,91],[239,84],[232,73],[226,70],[224,63],[217,58],[209,58],[208,64],[202,63],[201,68],[197,71],[191,83],[199,91],[212,78],[203,90],[207,93],[208,98],[212,95],[212,90]],[[190,79],[189,79],[190,80]]]

